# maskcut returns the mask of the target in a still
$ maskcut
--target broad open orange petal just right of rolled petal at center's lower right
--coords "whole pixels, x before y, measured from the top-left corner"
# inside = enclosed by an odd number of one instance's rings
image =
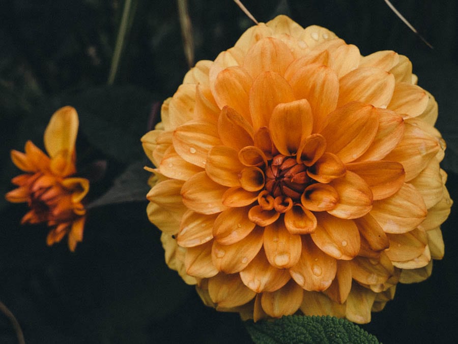
[[[367,183],[356,173],[347,171],[344,177],[329,183],[339,195],[339,201],[328,212],[340,218],[358,218],[372,209],[373,195]]]

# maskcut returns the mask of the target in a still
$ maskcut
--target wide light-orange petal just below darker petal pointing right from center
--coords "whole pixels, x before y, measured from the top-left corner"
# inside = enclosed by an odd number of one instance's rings
[[[410,232],[423,222],[427,214],[423,197],[411,184],[404,184],[393,196],[374,201],[370,212],[385,233]]]

